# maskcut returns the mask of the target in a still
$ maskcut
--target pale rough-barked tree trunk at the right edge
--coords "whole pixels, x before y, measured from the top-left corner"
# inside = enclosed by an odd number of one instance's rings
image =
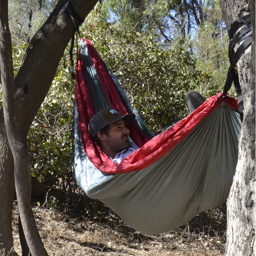
[[[227,201],[226,249],[228,256],[251,256],[255,255],[256,245],[255,0],[251,0],[250,3],[246,0],[220,0],[220,5],[228,29],[235,20],[249,12],[252,21],[252,44],[237,63],[239,82],[244,96],[244,120],[239,139],[238,164]]]

